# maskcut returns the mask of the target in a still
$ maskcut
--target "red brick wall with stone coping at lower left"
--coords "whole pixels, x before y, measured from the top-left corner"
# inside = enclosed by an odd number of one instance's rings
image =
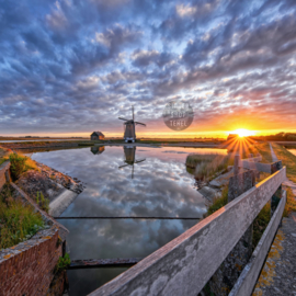
[[[62,255],[62,241],[68,230],[56,223],[15,184],[25,203],[43,216],[48,229],[39,230],[30,240],[0,251],[0,296],[50,295],[48,288],[54,278],[54,269]]]

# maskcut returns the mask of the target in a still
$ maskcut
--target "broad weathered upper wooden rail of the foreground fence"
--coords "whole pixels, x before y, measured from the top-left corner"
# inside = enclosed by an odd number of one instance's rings
[[[283,168],[90,295],[196,296],[285,179]]]

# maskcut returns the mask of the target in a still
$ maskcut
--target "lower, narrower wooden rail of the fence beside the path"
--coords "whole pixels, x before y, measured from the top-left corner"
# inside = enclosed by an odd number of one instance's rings
[[[274,212],[263,236],[261,237],[250,262],[246,265],[236,285],[231,289],[229,296],[250,296],[255,286],[258,276],[264,264],[265,258],[281,223],[284,208],[286,205],[286,191],[282,194],[282,200]]]

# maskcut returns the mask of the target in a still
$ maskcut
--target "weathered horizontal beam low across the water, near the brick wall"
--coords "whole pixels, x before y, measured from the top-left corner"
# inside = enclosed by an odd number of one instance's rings
[[[112,258],[112,259],[88,259],[71,260],[68,270],[102,269],[102,267],[130,267],[143,258]]]

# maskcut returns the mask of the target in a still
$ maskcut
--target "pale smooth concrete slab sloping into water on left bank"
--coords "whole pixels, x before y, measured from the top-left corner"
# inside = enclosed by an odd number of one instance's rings
[[[64,210],[75,201],[78,196],[77,193],[70,190],[64,190],[50,204],[49,215],[53,217],[59,217]]]

